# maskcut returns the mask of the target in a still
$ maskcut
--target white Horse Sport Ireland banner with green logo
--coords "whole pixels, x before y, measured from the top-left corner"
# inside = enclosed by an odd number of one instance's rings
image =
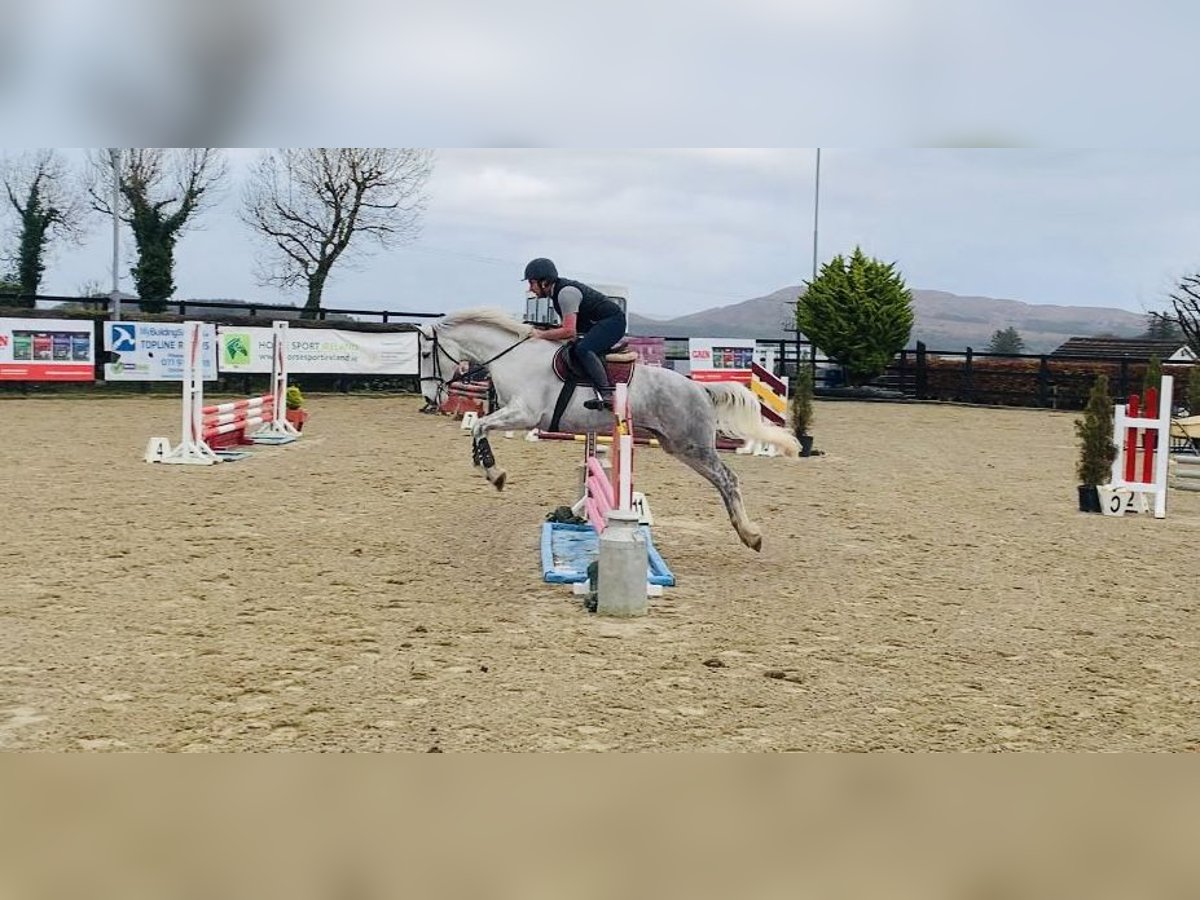
[[[222,372],[271,371],[274,331],[269,328],[220,328]],[[288,373],[418,374],[415,331],[361,332],[288,329]]]

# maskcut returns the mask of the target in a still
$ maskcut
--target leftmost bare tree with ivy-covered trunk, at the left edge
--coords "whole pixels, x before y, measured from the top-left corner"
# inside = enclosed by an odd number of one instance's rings
[[[17,251],[13,277],[20,293],[32,296],[46,272],[46,252],[53,240],[78,242],[84,233],[88,206],[70,167],[54,150],[22,154],[0,167],[7,205],[16,214]]]

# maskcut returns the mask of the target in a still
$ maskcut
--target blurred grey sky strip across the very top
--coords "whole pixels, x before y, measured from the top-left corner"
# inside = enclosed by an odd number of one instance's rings
[[[0,122],[64,146],[1194,146],[1198,32],[1194,0],[0,0]]]

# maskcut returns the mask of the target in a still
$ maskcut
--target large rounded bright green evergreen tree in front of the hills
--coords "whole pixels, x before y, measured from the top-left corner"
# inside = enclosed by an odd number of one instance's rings
[[[912,294],[894,263],[856,247],[821,266],[796,304],[796,326],[836,360],[851,384],[882,374],[912,334]]]

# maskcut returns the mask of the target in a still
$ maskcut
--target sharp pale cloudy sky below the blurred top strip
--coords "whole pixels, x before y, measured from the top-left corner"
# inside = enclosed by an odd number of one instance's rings
[[[254,281],[236,215],[257,151],[230,151],[222,202],[178,246],[180,299],[302,302]],[[438,150],[420,239],[335,269],[332,306],[518,310],[524,262],[623,284],[631,308],[672,317],[808,278],[815,151]],[[11,220],[8,221],[11,228]],[[122,233],[127,275],[130,235]],[[1031,304],[1160,304],[1200,269],[1200,152],[822,150],[818,254],[856,245],[912,288]],[[112,232],[60,246],[44,293],[104,289]]]

